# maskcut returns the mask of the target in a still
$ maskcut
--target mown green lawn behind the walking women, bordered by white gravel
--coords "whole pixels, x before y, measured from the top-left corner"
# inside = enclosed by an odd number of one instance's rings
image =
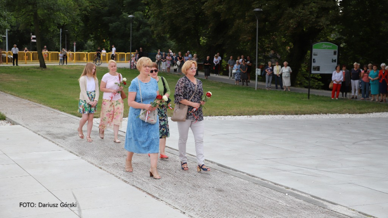
[[[80,117],[77,112],[80,96],[80,77],[84,66],[39,67],[0,67],[0,91],[55,108]],[[137,70],[119,68],[117,70],[130,81],[138,75]],[[98,81],[108,72],[106,67],[97,67]],[[172,89],[180,76],[159,73],[164,76]],[[348,99],[331,100],[329,97],[307,94],[257,90],[253,88],[224,84],[201,79],[204,92],[210,91],[213,97],[204,109],[205,116],[241,115],[303,115],[303,114],[362,114],[387,112],[388,104],[370,101],[351,101]],[[100,94],[101,102],[102,93]],[[126,101],[126,100],[125,100]],[[100,103],[95,117],[99,117]],[[125,107],[124,116],[128,116]],[[169,110],[169,116],[172,115]]]

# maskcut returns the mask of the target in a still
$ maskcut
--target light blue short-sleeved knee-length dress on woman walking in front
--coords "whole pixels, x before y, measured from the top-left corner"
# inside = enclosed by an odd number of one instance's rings
[[[132,80],[129,92],[136,92],[135,101],[140,101],[140,89],[138,78]],[[151,78],[148,83],[140,81],[142,88],[143,103],[149,104],[156,99],[156,92],[159,90],[158,82]],[[134,153],[159,153],[159,122],[155,124],[146,123],[139,116],[141,109],[129,108],[127,135],[124,148]],[[158,120],[158,119],[157,119]]]

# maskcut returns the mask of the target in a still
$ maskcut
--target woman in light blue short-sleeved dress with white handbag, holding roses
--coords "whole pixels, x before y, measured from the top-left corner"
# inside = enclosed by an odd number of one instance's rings
[[[157,109],[157,107],[152,107],[148,103],[154,101],[156,96],[159,95],[158,82],[148,76],[151,67],[151,59],[147,57],[140,58],[136,65],[140,74],[132,80],[129,86],[128,105],[130,108],[124,147],[128,151],[128,154],[125,162],[125,170],[127,172],[133,171],[133,153],[149,153],[151,159],[149,175],[154,179],[160,179],[161,177],[156,169],[159,153],[159,122],[150,124],[138,117],[141,109],[146,109],[147,111]],[[141,103],[140,91],[142,93],[143,103]]]

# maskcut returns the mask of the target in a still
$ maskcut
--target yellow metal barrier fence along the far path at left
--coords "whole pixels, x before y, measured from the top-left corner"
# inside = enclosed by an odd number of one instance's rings
[[[59,62],[59,52],[58,51],[47,51],[42,52],[43,58],[46,63],[58,63]],[[134,52],[132,52],[134,54]],[[101,53],[102,62],[108,63],[111,60],[112,53]],[[130,53],[125,52],[116,52],[116,62],[117,63],[128,63],[130,60]],[[78,63],[78,62],[93,62],[96,59],[96,52],[67,52],[67,63]],[[1,51],[1,60],[3,64],[12,63],[13,54],[11,51]],[[21,63],[34,63],[39,62],[38,52],[37,51],[19,51],[17,56],[18,62]]]

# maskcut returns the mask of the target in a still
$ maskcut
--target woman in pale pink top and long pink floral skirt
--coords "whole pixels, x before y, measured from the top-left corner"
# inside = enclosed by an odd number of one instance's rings
[[[100,138],[104,138],[104,131],[107,128],[113,128],[113,142],[120,143],[117,134],[118,129],[123,122],[124,102],[121,99],[121,91],[123,87],[119,87],[115,83],[120,83],[123,76],[116,72],[117,65],[114,60],[108,62],[109,73],[106,73],[100,84],[100,91],[104,92],[102,96],[100,125],[98,126]]]

